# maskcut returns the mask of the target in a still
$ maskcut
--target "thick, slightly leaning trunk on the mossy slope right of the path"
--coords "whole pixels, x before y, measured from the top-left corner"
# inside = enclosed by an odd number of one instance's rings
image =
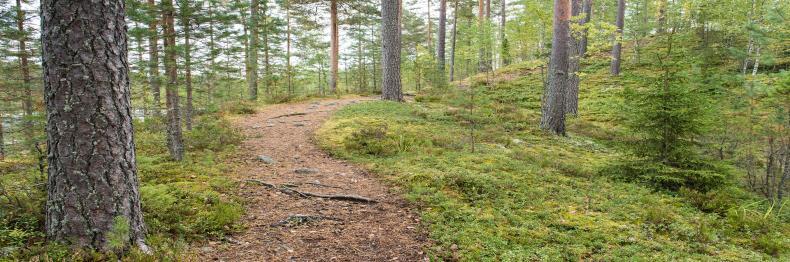
[[[554,37],[551,44],[549,85],[543,95],[540,128],[565,135],[565,94],[568,86],[570,0],[554,0]]]

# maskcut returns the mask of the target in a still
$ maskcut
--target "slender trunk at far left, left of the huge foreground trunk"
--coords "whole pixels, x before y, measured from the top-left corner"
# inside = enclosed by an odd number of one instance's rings
[[[19,69],[22,72],[22,86],[25,97],[22,99],[22,109],[25,113],[25,136],[28,142],[33,142],[33,88],[30,78],[30,63],[27,51],[27,32],[25,31],[25,12],[22,10],[22,3],[16,0],[16,25],[19,30]]]

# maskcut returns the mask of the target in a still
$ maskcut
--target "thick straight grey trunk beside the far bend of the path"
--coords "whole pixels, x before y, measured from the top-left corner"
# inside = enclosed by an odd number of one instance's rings
[[[400,78],[399,1],[381,1],[381,98],[403,101]]]

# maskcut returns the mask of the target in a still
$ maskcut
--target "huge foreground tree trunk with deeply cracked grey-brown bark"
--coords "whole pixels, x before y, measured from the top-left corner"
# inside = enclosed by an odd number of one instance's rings
[[[148,250],[124,9],[121,0],[41,1],[50,241],[97,250],[129,245]],[[123,246],[111,246],[109,232],[127,233]]]

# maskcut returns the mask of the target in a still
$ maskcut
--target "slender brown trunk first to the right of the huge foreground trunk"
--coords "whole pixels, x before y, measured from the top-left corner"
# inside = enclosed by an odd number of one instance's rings
[[[153,107],[154,115],[161,115],[162,98],[160,95],[159,84],[159,6],[156,5],[154,0],[148,0],[148,15],[151,22],[148,24],[148,84],[151,86],[151,94],[154,96],[154,101],[151,104]]]

